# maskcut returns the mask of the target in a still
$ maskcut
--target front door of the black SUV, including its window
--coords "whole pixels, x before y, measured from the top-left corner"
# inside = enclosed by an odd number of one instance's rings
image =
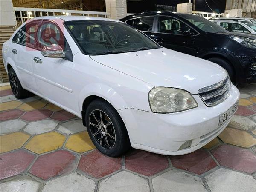
[[[157,16],[154,40],[161,46],[190,55],[196,54],[195,35],[190,26],[169,16]]]

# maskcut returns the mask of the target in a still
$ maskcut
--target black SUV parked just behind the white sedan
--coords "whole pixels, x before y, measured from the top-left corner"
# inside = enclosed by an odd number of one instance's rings
[[[256,82],[256,35],[228,32],[193,14],[154,11],[121,21],[161,46],[218,63],[233,82]]]

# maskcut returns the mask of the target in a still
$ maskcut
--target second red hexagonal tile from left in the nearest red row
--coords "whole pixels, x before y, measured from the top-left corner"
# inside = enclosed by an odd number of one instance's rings
[[[44,180],[71,172],[76,167],[76,156],[69,151],[58,150],[41,155],[29,172]]]

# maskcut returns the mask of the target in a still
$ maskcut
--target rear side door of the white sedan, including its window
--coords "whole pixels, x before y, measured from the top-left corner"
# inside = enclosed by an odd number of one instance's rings
[[[33,70],[33,57],[35,52],[38,52],[35,37],[40,23],[41,20],[35,20],[26,23],[20,28],[12,40],[13,47],[11,48],[22,86],[32,91],[37,91]]]

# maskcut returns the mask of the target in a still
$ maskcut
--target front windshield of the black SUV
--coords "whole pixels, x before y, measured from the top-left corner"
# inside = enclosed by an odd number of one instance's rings
[[[204,17],[193,14],[180,14],[180,16],[205,32],[227,32],[227,30],[223,27],[218,26],[217,24],[205,19]]]

